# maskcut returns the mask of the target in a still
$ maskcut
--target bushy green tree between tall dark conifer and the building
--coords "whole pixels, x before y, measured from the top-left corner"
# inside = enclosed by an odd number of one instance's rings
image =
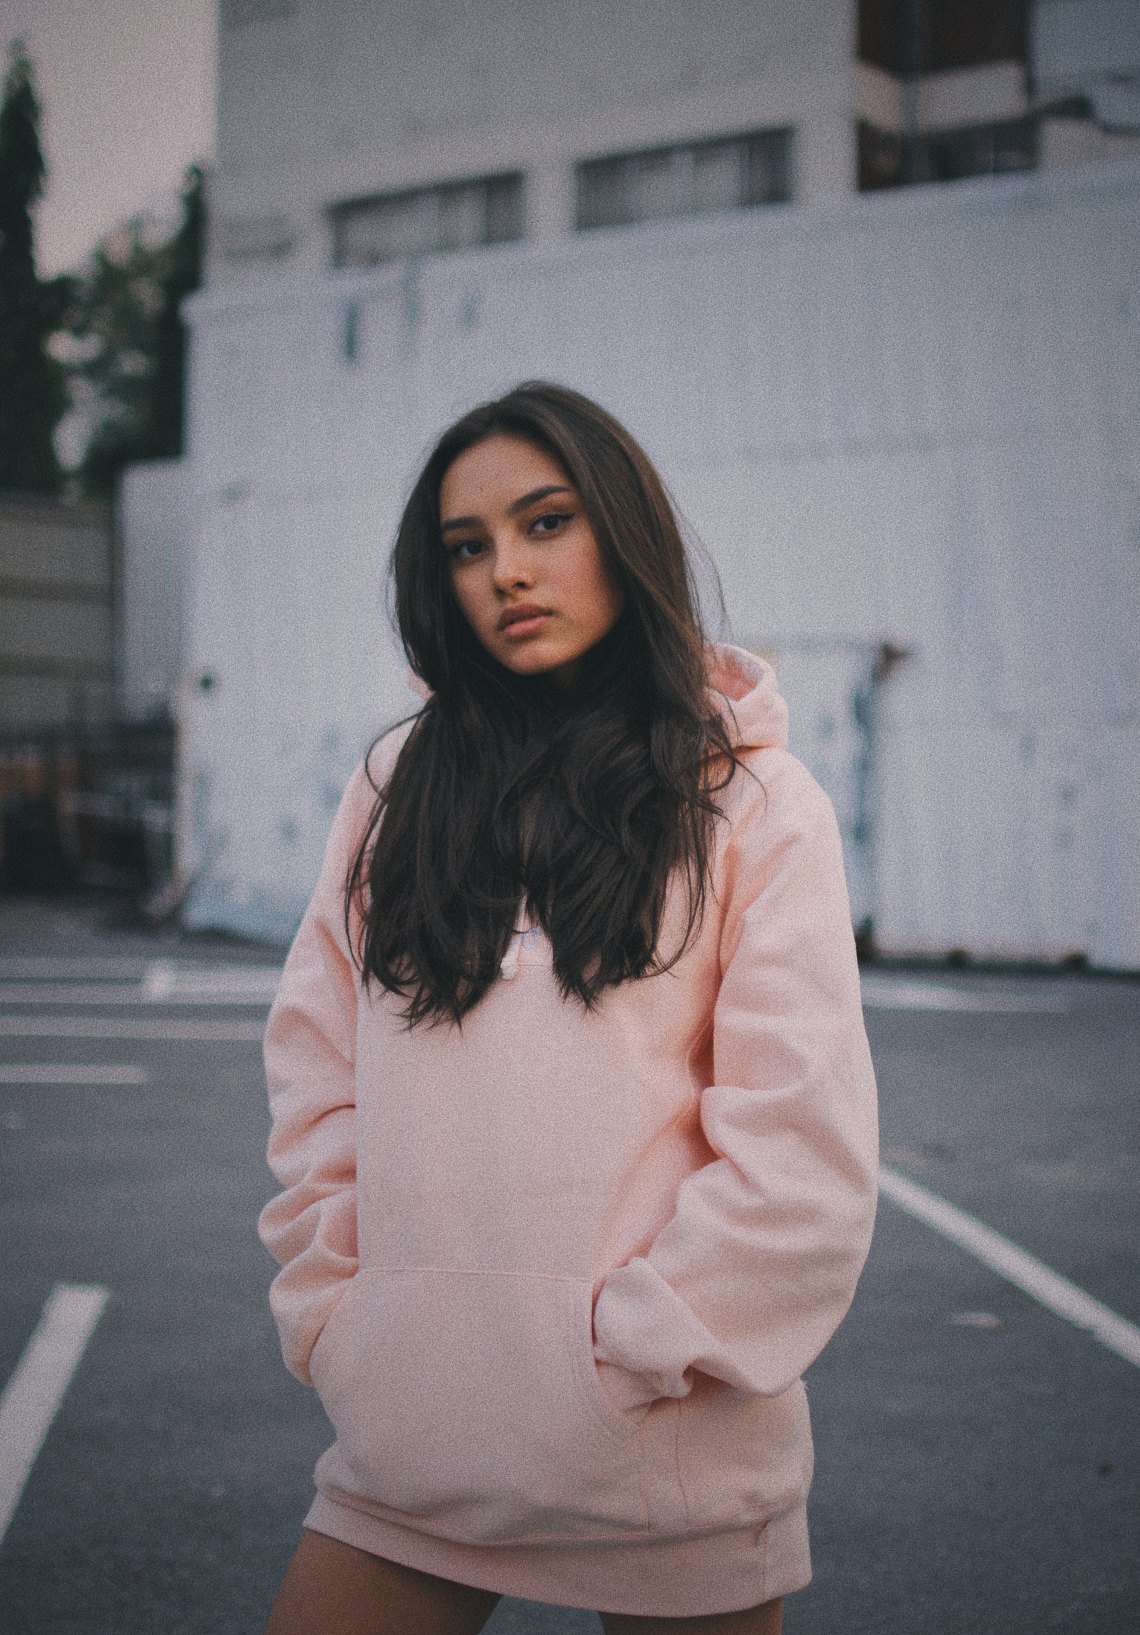
[[[75,397],[92,432],[79,477],[106,499],[134,459],[183,448],[186,335],[180,307],[201,283],[203,173],[186,172],[170,237],[136,219],[105,239],[79,278],[67,327]]]

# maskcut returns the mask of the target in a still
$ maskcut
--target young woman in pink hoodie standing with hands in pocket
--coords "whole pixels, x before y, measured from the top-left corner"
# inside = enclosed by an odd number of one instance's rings
[[[510,1594],[774,1635],[875,1208],[834,814],[586,397],[453,425],[393,569],[429,697],[265,1038],[272,1305],[337,1437],[268,1628],[474,1635]]]

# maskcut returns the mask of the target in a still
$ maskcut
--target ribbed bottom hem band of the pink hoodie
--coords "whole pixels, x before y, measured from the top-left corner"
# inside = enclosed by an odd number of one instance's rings
[[[317,1493],[304,1525],[401,1566],[546,1606],[643,1617],[710,1617],[811,1581],[806,1503],[761,1527],[698,1539],[479,1545],[417,1532]]]

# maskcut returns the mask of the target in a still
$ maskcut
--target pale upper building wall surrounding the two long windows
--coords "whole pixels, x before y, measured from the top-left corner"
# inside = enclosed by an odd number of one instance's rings
[[[854,186],[854,0],[222,0],[209,283],[321,273],[334,203],[523,170],[572,229],[576,160],[795,126],[795,196]]]

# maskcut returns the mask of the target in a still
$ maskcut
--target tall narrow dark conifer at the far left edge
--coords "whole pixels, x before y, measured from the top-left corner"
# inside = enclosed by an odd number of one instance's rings
[[[57,494],[62,484],[54,432],[67,378],[49,338],[70,281],[36,275],[33,209],[46,177],[33,65],[15,41],[0,101],[0,489],[25,494]]]

